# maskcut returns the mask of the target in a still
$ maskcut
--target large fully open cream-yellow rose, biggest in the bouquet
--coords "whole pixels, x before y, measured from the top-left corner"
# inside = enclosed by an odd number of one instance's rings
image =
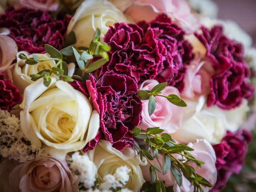
[[[49,87],[44,86],[42,78],[27,86],[20,108],[26,138],[32,145],[48,146],[48,153],[61,159],[66,152],[81,150],[100,127],[99,114],[92,112],[88,99],[55,78]]]

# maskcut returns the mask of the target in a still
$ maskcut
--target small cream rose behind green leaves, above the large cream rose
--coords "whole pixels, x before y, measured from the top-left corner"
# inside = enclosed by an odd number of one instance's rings
[[[37,74],[38,72],[45,70],[45,69],[51,69],[52,67],[55,66],[55,61],[54,60],[46,60],[46,61],[40,61],[35,65],[29,65],[26,64],[25,61],[26,60],[22,60],[18,57],[19,54],[25,54],[28,55],[27,52],[25,51],[21,51],[18,52],[17,54],[17,63],[14,64],[14,70],[12,72],[12,78],[13,78],[13,82],[16,86],[18,86],[20,93],[23,93],[25,88],[32,84],[34,81],[31,80],[30,75],[32,74]],[[38,56],[39,59],[49,59],[51,58],[49,54],[45,53],[45,54],[31,54],[28,55],[28,58],[32,58],[33,55]],[[74,69],[75,69],[75,64],[74,63],[70,63],[68,64],[68,76],[72,76],[74,73]],[[54,74],[52,74],[52,76],[54,76]],[[59,79],[57,76],[54,76],[57,80]]]

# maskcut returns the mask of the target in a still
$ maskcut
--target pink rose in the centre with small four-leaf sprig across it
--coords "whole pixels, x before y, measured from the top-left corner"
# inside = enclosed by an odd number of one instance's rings
[[[139,86],[139,89],[152,90],[157,84],[159,83],[156,80],[146,80]],[[180,96],[178,89],[172,86],[166,86],[161,94],[166,96],[176,94]],[[157,100],[156,110],[151,116],[148,114],[148,100],[142,100],[142,123],[140,128],[146,130],[149,127],[160,127],[167,133],[176,132],[182,122],[182,107],[170,103],[164,97],[156,96],[155,98]]]

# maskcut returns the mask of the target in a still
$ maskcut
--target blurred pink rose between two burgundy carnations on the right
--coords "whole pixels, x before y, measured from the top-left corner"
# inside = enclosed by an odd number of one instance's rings
[[[210,78],[214,69],[207,62],[200,61],[200,55],[197,54],[186,67],[184,75],[184,90],[182,98],[195,99],[210,92]]]

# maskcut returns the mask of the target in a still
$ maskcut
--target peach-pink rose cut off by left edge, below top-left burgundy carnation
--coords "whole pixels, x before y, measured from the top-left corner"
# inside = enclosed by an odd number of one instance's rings
[[[16,58],[18,48],[12,38],[0,34],[0,73],[11,79],[10,64]]]

